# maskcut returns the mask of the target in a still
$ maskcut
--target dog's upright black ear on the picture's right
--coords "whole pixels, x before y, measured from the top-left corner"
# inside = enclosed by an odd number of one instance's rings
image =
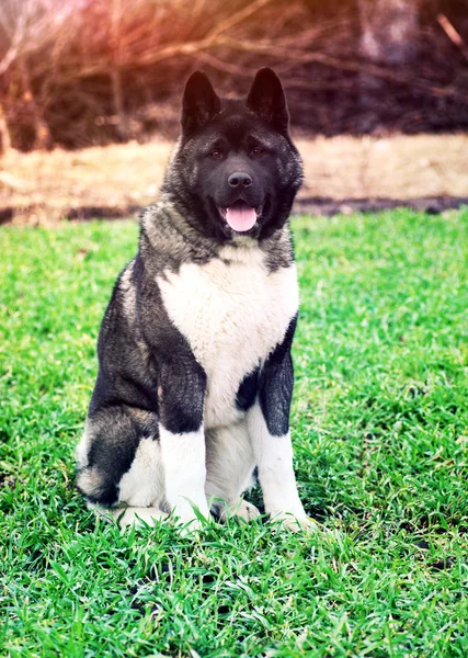
[[[269,67],[260,69],[247,97],[247,106],[281,133],[287,134],[289,112],[279,78]]]

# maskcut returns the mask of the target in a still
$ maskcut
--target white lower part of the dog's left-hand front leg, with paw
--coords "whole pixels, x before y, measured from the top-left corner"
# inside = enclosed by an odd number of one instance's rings
[[[205,496],[205,433],[173,434],[159,426],[162,463],[165,475],[165,498],[174,515],[185,523],[196,519],[193,504],[208,517]]]

